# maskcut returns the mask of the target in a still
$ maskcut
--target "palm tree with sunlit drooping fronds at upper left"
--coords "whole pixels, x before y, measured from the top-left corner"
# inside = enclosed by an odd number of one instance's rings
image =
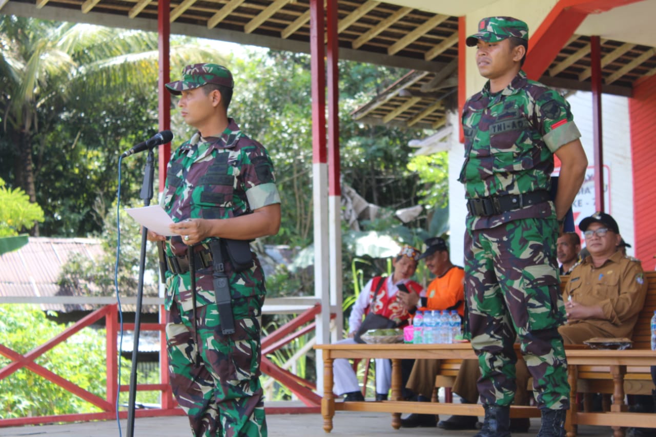
[[[31,202],[37,200],[33,149],[39,133],[61,123],[73,100],[83,106],[119,90],[152,92],[158,56],[155,33],[0,16],[2,131],[13,152],[14,182]],[[189,39],[172,41],[173,64],[199,56],[217,54]],[[39,234],[36,224],[32,233]]]

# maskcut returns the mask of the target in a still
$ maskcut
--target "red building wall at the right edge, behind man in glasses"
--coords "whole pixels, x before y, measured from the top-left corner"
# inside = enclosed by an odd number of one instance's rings
[[[644,270],[656,259],[656,75],[635,87],[628,101],[631,123],[635,257]]]

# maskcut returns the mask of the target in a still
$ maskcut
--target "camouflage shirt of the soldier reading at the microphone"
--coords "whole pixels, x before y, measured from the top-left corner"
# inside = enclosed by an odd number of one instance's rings
[[[180,222],[186,218],[230,218],[280,203],[274,167],[262,144],[245,136],[233,119],[219,137],[202,138],[196,133],[171,156],[162,206]],[[205,239],[202,247],[209,248]],[[185,255],[187,246],[179,237],[169,239],[167,255]],[[264,273],[253,255],[251,269],[236,273],[226,263],[233,298],[266,293]],[[196,272],[197,306],[215,301],[212,268]],[[166,308],[172,299],[185,310],[192,308],[189,273],[167,272]]]

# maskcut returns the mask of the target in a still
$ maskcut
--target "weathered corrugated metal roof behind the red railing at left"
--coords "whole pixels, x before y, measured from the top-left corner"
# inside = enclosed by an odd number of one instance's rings
[[[71,295],[57,278],[73,254],[96,259],[102,255],[99,239],[30,237],[17,251],[0,255],[0,297]],[[85,310],[81,305],[42,304],[43,310]]]

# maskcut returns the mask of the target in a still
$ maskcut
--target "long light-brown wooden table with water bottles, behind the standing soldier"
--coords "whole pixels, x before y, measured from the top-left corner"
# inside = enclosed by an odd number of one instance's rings
[[[624,375],[627,365],[656,365],[656,351],[652,350],[590,350],[584,346],[567,346],[571,409],[567,413],[567,437],[576,436],[576,425],[605,425],[613,427],[615,437],[623,437],[622,427],[656,428],[656,415],[628,413],[624,402]],[[335,411],[378,411],[392,413],[392,427],[401,427],[401,412],[420,414],[485,415],[480,404],[440,404],[434,402],[405,402],[401,400],[401,360],[475,359],[469,343],[458,344],[318,344],[323,351],[323,400],[321,415],[323,430],[333,430]],[[521,354],[518,353],[518,356]],[[389,358],[392,360],[392,394],[384,402],[335,402],[333,394],[333,360],[336,358]],[[578,365],[607,365],[615,386],[613,405],[608,413],[581,413],[577,409],[576,386]],[[512,406],[511,417],[540,417],[531,406]]]

